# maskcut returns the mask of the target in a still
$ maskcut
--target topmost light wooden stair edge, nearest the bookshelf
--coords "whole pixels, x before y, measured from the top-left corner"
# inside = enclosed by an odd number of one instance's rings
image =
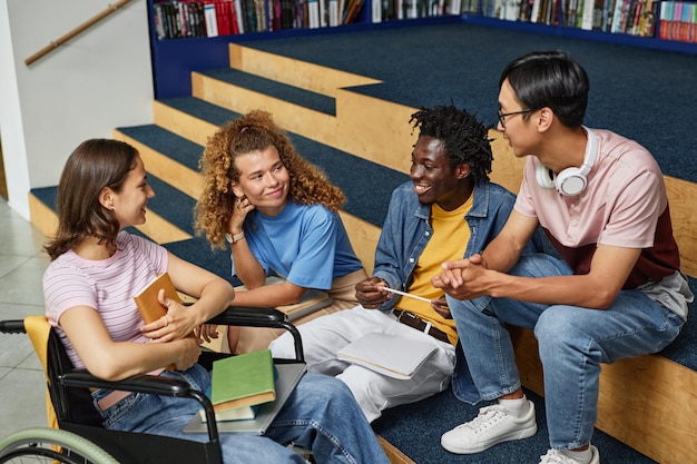
[[[229,66],[288,86],[334,97],[336,89],[380,83],[381,80],[338,69],[230,43]]]

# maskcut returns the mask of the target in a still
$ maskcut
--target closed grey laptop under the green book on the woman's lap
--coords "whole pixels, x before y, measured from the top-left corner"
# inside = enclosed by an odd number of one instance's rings
[[[305,363],[276,364],[278,377],[276,378],[276,399],[264,403],[259,406],[256,417],[249,421],[225,421],[218,422],[218,432],[248,433],[264,435],[271,423],[276,418],[278,412],[295,389],[307,366]],[[233,381],[234,382],[234,381]],[[185,433],[208,433],[206,423],[200,419],[199,414],[194,414],[189,423],[184,427]]]

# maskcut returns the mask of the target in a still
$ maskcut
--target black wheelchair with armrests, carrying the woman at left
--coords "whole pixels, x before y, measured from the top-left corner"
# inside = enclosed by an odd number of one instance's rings
[[[42,330],[46,347],[30,334],[29,323],[36,320]],[[295,340],[295,358],[274,359],[275,363],[305,363],[302,338],[287,316],[275,308],[229,307],[209,320],[222,326],[272,327],[288,330]],[[33,427],[18,431],[0,440],[0,463],[62,463],[62,464],[223,464],[218,430],[213,405],[205,393],[190,388],[177,378],[137,375],[124,381],[101,381],[87,372],[76,369],[68,358],[56,330],[46,318],[30,316],[23,320],[0,320],[0,333],[28,334],[32,337],[39,357],[45,354],[45,374],[48,396],[55,411],[57,428]],[[42,353],[42,351],[45,352]],[[207,369],[213,362],[229,354],[202,352],[198,361]],[[208,441],[200,443],[147,433],[109,431],[92,405],[90,388],[109,388],[147,393],[197,401],[206,414]]]

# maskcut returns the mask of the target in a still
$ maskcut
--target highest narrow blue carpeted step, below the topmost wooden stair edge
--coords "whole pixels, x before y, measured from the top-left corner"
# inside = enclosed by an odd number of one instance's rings
[[[254,90],[279,100],[288,101],[301,107],[310,108],[318,112],[324,112],[331,116],[336,115],[335,100],[321,93],[315,93],[310,90],[288,86],[286,83],[232,68],[208,69],[196,72],[234,86],[244,87],[245,89]]]

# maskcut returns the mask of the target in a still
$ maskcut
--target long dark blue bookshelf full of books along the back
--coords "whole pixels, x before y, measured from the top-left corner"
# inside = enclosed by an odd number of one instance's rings
[[[568,6],[571,1],[581,2],[588,0],[512,0],[513,2],[547,2],[553,3],[553,12],[548,14],[546,21],[532,22],[530,20],[521,20],[520,12],[517,11],[517,16],[501,11],[504,4],[510,4],[511,0],[403,0],[403,1],[419,1],[423,2],[424,7],[421,9],[421,14],[431,14],[424,17],[413,18],[414,12],[418,11],[414,8],[413,11],[401,12],[401,19],[397,18],[394,6],[390,6],[386,0],[363,0],[362,8],[356,12],[353,21],[346,24],[340,26],[325,26],[317,28],[310,27],[295,27],[279,30],[269,30],[274,28],[271,19],[265,21],[263,31],[245,32],[237,34],[225,34],[217,37],[190,37],[190,38],[176,38],[176,39],[160,39],[158,33],[161,34],[161,29],[158,32],[158,23],[155,13],[155,4],[163,3],[164,0],[147,0],[148,1],[148,21],[150,24],[150,51],[153,59],[153,81],[155,87],[156,98],[168,97],[181,97],[188,96],[192,92],[190,73],[195,70],[210,69],[210,68],[224,68],[228,66],[228,43],[229,42],[245,42],[256,41],[265,39],[283,39],[298,36],[313,36],[313,34],[330,34],[337,32],[352,32],[362,31],[369,29],[379,28],[394,28],[394,27],[408,27],[418,24],[440,24],[449,22],[465,22],[478,26],[493,27],[493,28],[507,28],[513,30],[521,30],[534,33],[544,33],[553,36],[570,37],[581,40],[595,40],[603,42],[613,42],[620,45],[628,45],[635,47],[650,48],[665,51],[677,51],[697,55],[697,2],[696,1],[673,1],[673,0],[656,0],[655,1],[655,27],[652,28],[651,37],[641,37],[639,34],[609,32],[598,30],[596,28],[583,29],[580,27],[563,26],[567,18],[563,16],[562,6]],[[233,3],[230,0],[229,3]],[[264,2],[264,11],[268,18],[269,8],[273,8],[275,0],[257,0]],[[286,0],[277,0],[286,1]],[[296,1],[296,0],[287,0]],[[305,0],[312,2],[313,0]],[[338,0],[342,1],[342,0]],[[350,1],[350,0],[345,0]],[[440,3],[436,3],[440,1]],[[593,0],[590,0],[593,1]],[[595,0],[603,1],[605,4],[609,4],[612,0]],[[615,1],[640,1],[640,0],[615,0]],[[373,2],[380,2],[380,8]],[[490,4],[498,6],[498,10],[491,10]],[[685,40],[669,40],[664,38],[666,34],[667,20],[664,21],[661,17],[662,9],[666,9],[667,4],[670,4],[670,13],[678,18],[677,3],[680,3],[679,14],[681,14],[683,21],[675,19],[671,23],[687,23],[683,24],[681,38]],[[431,4],[430,10],[428,4]],[[440,4],[440,7],[438,7]],[[375,8],[373,8],[375,7]],[[662,7],[662,9],[661,9]],[[440,8],[440,10],[439,10]],[[552,7],[550,7],[552,8]],[[606,7],[607,9],[607,7]],[[459,14],[452,12],[460,11]],[[416,13],[418,16],[419,13]],[[487,16],[490,14],[490,16]],[[508,14],[508,16],[507,16]],[[691,16],[690,16],[691,14]],[[380,19],[377,19],[380,18]],[[501,19],[509,18],[509,19]],[[580,21],[580,20],[579,20]],[[691,22],[691,27],[689,23]],[[588,27],[588,24],[587,24]],[[671,27],[676,31],[680,31],[679,26]],[[679,36],[679,32],[675,32],[674,36]],[[665,36],[667,37],[667,34]]]

